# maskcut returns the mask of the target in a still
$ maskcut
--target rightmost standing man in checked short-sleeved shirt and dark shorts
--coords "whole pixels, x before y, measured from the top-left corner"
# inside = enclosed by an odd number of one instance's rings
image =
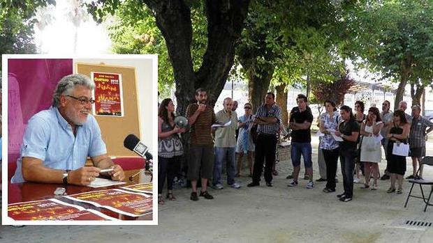
[[[428,128],[428,129],[427,129]],[[411,148],[413,173],[406,179],[422,179],[423,166],[420,167],[420,173],[416,175],[420,159],[425,157],[425,136],[432,132],[433,123],[421,116],[421,107],[418,104],[412,106],[412,124],[409,133],[409,148]],[[418,178],[417,178],[418,176]]]

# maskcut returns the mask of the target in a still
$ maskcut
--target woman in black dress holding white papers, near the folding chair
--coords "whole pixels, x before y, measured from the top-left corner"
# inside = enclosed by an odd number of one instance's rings
[[[393,126],[389,130],[387,137],[388,141],[388,172],[391,174],[391,186],[388,193],[395,191],[395,180],[398,182],[397,194],[402,194],[403,175],[406,172],[406,156],[395,155],[397,151],[393,151],[394,147],[400,147],[402,143],[407,143],[410,124],[404,116],[404,111],[397,110],[394,112]],[[404,146],[401,146],[402,148]],[[409,146],[408,146],[409,148]]]

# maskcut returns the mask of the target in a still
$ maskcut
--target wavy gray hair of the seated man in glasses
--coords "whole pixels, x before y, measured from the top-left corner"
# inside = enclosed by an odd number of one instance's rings
[[[73,88],[79,85],[85,86],[91,91],[93,91],[95,88],[94,81],[91,81],[91,79],[89,79],[89,77],[86,75],[75,74],[62,77],[59,81],[59,84],[56,86],[54,95],[52,95],[52,106],[59,107],[60,95],[70,95]]]

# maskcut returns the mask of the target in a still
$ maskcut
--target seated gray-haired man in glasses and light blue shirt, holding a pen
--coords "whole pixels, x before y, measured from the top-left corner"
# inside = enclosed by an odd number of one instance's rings
[[[124,180],[124,171],[108,157],[101,130],[90,114],[94,88],[85,75],[68,75],[59,81],[52,107],[29,120],[12,183],[89,185],[100,174]],[[85,166],[87,156],[93,166]],[[113,171],[101,173],[105,168]]]

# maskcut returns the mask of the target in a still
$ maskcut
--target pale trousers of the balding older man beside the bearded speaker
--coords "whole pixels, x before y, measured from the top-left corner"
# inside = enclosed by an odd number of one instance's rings
[[[219,148],[215,147],[215,163],[214,163],[214,179],[212,184],[221,183],[221,169],[223,162],[226,161],[227,166],[227,184],[235,183],[235,148]]]

